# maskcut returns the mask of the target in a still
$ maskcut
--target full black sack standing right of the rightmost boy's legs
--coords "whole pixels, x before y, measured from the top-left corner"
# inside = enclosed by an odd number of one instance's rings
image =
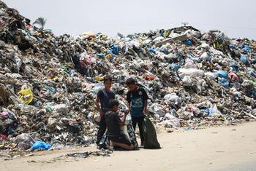
[[[143,121],[143,136],[145,138],[144,148],[159,149],[161,148],[157,140],[157,132],[148,116]]]

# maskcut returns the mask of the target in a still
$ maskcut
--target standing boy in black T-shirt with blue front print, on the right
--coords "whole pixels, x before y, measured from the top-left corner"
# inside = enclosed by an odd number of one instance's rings
[[[136,85],[135,79],[127,79],[127,86],[129,87],[129,92],[127,93],[127,113],[131,113],[132,127],[134,130],[138,124],[140,130],[140,146],[143,147],[144,136],[142,125],[144,114],[147,114],[148,95],[143,88]]]

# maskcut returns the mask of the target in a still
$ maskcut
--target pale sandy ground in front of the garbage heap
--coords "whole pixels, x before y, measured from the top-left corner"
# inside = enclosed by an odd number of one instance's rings
[[[0,170],[256,170],[256,122],[238,126],[211,127],[186,132],[162,131],[160,150],[114,151],[111,156],[61,159],[74,151],[95,151],[96,147],[42,151],[34,156],[1,161]],[[34,163],[28,161],[34,160]]]

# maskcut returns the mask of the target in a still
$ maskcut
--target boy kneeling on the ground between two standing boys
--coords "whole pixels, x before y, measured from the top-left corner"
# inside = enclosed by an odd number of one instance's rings
[[[110,148],[119,146],[126,150],[133,150],[135,146],[127,139],[126,135],[121,134],[121,128],[124,126],[125,119],[128,113],[124,114],[124,119],[121,121],[118,114],[118,100],[110,100],[108,103],[109,111],[105,114],[105,121],[108,127],[108,138],[110,140]]]

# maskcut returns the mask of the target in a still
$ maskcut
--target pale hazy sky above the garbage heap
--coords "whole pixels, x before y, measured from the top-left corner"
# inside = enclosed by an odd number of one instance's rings
[[[181,26],[256,39],[255,0],[1,0],[31,21],[47,19],[57,35],[87,31],[110,36]]]

